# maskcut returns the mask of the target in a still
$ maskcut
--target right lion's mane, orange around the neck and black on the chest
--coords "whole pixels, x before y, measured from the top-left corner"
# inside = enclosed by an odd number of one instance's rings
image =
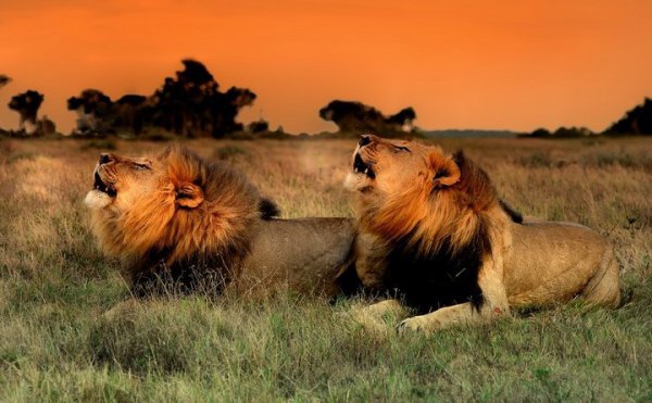
[[[482,262],[501,228],[521,218],[462,152],[431,149],[425,166],[434,174],[377,200],[366,196],[358,203],[359,228],[380,239],[373,253],[385,255],[387,266],[376,281],[385,289],[400,290],[419,312],[466,301],[479,307]]]

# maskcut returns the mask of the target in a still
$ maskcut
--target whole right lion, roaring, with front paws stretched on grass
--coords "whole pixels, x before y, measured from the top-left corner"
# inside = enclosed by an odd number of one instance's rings
[[[344,186],[354,192],[362,284],[396,293],[418,314],[401,330],[487,322],[576,297],[619,304],[619,270],[601,236],[577,224],[516,219],[462,152],[363,136]],[[403,305],[390,299],[367,312]]]

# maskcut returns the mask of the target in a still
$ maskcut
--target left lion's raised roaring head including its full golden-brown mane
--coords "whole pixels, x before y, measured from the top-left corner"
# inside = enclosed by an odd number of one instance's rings
[[[243,175],[178,146],[148,158],[102,154],[85,203],[101,248],[135,263],[131,276],[146,261],[228,262],[247,250],[261,211],[274,214]]]

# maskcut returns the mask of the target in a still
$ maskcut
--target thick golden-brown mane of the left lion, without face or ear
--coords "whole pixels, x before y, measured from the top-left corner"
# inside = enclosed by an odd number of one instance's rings
[[[147,292],[165,275],[184,286],[198,277],[223,286],[249,250],[252,226],[277,214],[275,205],[243,175],[206,164],[183,147],[171,147],[158,159],[164,171],[155,191],[127,206],[92,210],[102,250],[125,263],[136,292]],[[175,200],[184,187],[193,186],[202,189],[199,205],[179,206]]]

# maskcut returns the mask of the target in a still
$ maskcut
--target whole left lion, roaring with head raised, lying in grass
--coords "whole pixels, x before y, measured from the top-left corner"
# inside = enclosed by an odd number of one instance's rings
[[[351,262],[353,222],[278,219],[240,173],[186,148],[154,158],[102,154],[85,203],[106,255],[136,295],[174,291],[335,295]]]

